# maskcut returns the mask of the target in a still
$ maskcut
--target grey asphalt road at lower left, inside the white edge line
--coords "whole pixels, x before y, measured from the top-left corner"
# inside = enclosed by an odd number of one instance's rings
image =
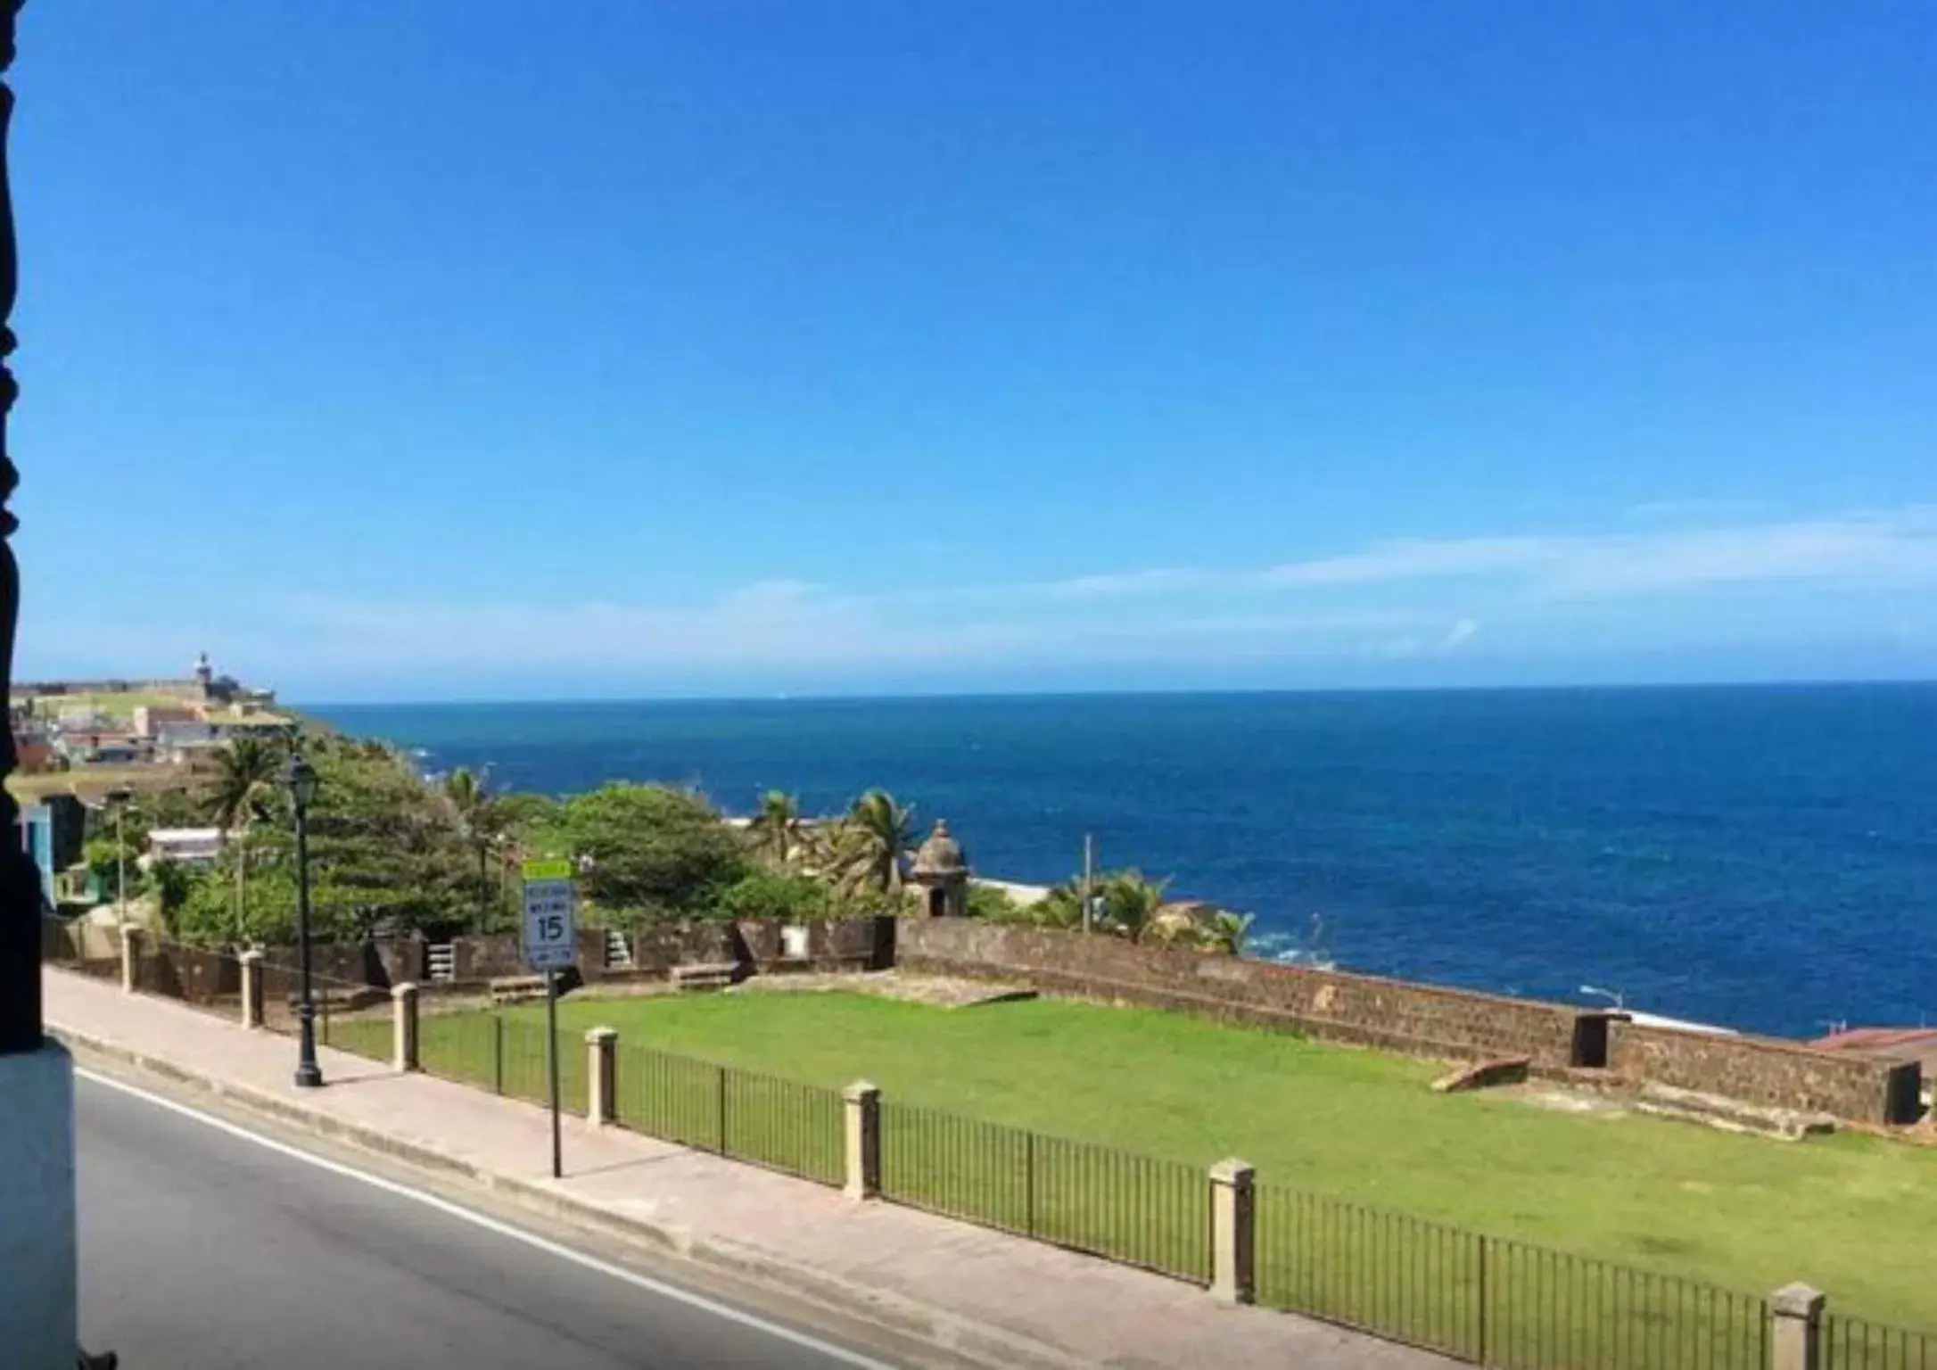
[[[879,1364],[107,1085],[77,1093],[81,1343],[128,1370]]]

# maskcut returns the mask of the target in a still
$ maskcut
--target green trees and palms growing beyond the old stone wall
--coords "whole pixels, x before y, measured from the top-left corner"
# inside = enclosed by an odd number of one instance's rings
[[[281,944],[296,928],[294,812],[287,785],[298,738],[240,738],[188,812],[227,841],[213,868],[167,862],[143,876],[176,936],[209,944]],[[523,858],[566,858],[577,870],[587,922],[633,926],[655,919],[808,920],[914,913],[905,889],[914,812],[868,791],[833,820],[810,822],[798,802],[769,793],[734,825],[699,793],[610,783],[585,794],[494,794],[484,777],[453,771],[438,783],[382,742],[304,732],[318,773],[308,812],[312,934],[362,940],[422,932],[500,932],[515,926]],[[130,851],[159,814],[130,812]],[[97,831],[87,858],[110,876],[116,847]],[[130,895],[136,866],[130,862]],[[1133,942],[1238,951],[1247,919],[1164,901],[1164,882],[1135,870],[1100,876],[1092,930]],[[970,917],[1075,928],[1083,893],[1065,882],[1032,905],[972,886]]]

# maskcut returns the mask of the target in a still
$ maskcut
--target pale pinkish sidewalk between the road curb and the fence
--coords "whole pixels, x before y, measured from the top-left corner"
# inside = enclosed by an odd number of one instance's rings
[[[544,1110],[322,1052],[296,1091],[292,1043],[118,982],[46,971],[46,1019],[77,1050],[172,1074],[285,1122],[455,1172],[558,1217],[668,1246],[988,1364],[1424,1370],[1449,1362],[1325,1323],[1224,1308],[1104,1260],[566,1120],[550,1178]]]

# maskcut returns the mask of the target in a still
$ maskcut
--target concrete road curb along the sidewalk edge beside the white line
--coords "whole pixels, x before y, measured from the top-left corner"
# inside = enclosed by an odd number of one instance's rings
[[[418,1170],[457,1178],[465,1184],[504,1196],[533,1213],[569,1223],[624,1242],[651,1246],[661,1256],[676,1256],[695,1265],[707,1265],[740,1279],[767,1285],[777,1292],[806,1300],[827,1312],[835,1312],[858,1322],[872,1323],[901,1337],[924,1341],[938,1351],[994,1368],[1025,1366],[1027,1370],[1085,1370],[1094,1362],[1073,1356],[1058,1347],[1050,1347],[1032,1337],[1007,1331],[990,1323],[980,1323],[959,1314],[943,1312],[920,1304],[903,1294],[868,1289],[850,1281],[833,1279],[815,1269],[777,1260],[765,1252],[744,1248],[734,1242],[695,1236],[690,1229],[630,1213],[614,1213],[597,1203],[587,1203],[571,1194],[513,1174],[488,1170],[469,1161],[444,1155],[436,1147],[420,1141],[395,1137],[366,1124],[345,1122],[322,1110],[304,1106],[291,1099],[236,1085],[217,1075],[184,1070],[182,1066],[126,1046],[83,1029],[48,1023],[48,1035],[68,1046],[85,1064],[87,1056],[118,1062],[134,1070],[182,1085],[190,1091],[221,1099],[229,1105],[281,1122],[285,1126],[310,1132],[318,1137],[341,1141],[364,1151],[401,1161]]]

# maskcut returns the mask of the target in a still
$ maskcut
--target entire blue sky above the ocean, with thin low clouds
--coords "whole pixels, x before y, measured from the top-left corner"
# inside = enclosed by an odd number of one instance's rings
[[[1937,674],[1920,0],[43,2],[15,76],[21,674]]]

